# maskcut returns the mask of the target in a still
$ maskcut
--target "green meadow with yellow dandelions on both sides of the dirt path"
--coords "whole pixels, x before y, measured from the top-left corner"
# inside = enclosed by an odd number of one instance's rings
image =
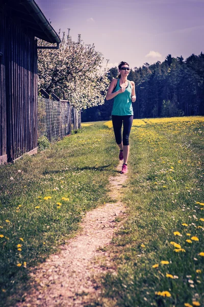
[[[118,272],[101,280],[95,306],[105,298],[110,306],[204,304],[204,118],[155,120],[133,124],[123,198],[129,214],[111,246]],[[30,268],[74,235],[87,210],[109,201],[118,164],[111,125],[83,126],[35,157],[0,167],[3,306],[23,296]]]

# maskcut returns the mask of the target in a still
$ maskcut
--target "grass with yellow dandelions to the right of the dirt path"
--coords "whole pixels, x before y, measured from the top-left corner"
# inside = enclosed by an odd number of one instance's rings
[[[204,305],[203,131],[203,118],[133,127],[117,275],[102,279],[110,306]]]

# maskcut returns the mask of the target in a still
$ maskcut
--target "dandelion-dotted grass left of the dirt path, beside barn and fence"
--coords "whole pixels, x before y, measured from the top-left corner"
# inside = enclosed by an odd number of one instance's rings
[[[1,306],[21,299],[30,268],[78,230],[87,210],[109,200],[117,155],[112,132],[100,123],[0,167]]]

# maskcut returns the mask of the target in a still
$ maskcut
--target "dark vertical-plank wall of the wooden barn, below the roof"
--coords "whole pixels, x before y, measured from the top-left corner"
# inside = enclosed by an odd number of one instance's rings
[[[37,151],[37,45],[3,12],[0,33],[0,156],[10,162]]]

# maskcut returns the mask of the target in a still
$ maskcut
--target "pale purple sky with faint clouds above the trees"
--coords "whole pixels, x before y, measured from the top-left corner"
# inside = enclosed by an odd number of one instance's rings
[[[41,11],[72,40],[78,34],[109,60],[131,68],[204,52],[204,0],[35,0]]]

